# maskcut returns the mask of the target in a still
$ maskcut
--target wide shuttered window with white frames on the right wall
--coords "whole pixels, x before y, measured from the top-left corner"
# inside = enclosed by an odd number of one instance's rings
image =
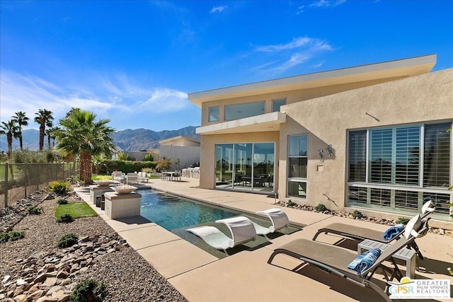
[[[348,133],[348,204],[448,214],[452,122]]]

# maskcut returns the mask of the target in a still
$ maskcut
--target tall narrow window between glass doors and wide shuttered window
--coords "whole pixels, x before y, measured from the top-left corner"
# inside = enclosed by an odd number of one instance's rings
[[[287,196],[306,198],[306,167],[308,161],[308,136],[288,137]]]

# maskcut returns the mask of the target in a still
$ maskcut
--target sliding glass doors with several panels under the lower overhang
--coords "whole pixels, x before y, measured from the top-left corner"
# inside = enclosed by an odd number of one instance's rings
[[[216,187],[273,192],[275,143],[216,145]]]

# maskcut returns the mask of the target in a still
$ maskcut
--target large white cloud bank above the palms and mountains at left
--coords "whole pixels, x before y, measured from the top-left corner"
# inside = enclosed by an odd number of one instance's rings
[[[35,76],[1,70],[0,120],[11,120],[23,111],[33,127],[35,112],[52,111],[57,122],[71,108],[81,108],[108,118],[115,112],[134,115],[140,112],[174,112],[187,108],[187,94],[169,88],[144,88],[132,83],[124,74],[115,76],[86,75],[84,83],[57,85]]]

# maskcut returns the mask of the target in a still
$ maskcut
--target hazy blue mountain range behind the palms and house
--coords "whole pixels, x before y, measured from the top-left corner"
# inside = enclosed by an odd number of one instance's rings
[[[172,137],[190,137],[200,140],[200,135],[195,134],[197,127],[188,126],[178,130],[163,130],[155,132],[149,129],[125,129],[115,132],[113,144],[124,151],[149,151],[159,148],[159,141]],[[40,133],[35,129],[25,129],[22,132],[23,148],[30,150],[39,149]],[[47,146],[45,137],[44,146]],[[19,140],[13,139],[13,149],[19,147]],[[6,135],[0,135],[0,151],[8,151]]]

